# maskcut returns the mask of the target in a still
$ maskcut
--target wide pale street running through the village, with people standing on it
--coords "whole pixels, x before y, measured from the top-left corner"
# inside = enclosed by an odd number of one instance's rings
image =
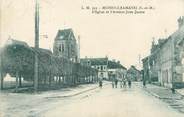
[[[36,95],[1,93],[0,116],[183,117],[183,113],[145,91],[141,83],[133,83],[131,89],[113,89],[110,83],[106,83],[102,89],[98,88],[98,84],[87,87],[88,89],[81,86],[75,90],[69,88]]]

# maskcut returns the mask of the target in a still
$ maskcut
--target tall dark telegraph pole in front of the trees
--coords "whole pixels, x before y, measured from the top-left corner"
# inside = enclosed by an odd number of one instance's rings
[[[39,3],[35,0],[35,49],[39,49]],[[38,90],[38,53],[35,52],[34,63],[34,91]]]

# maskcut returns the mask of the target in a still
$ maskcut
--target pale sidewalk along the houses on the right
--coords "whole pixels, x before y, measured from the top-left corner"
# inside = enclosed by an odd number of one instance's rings
[[[182,99],[182,95],[177,91],[173,94],[171,89],[160,87],[152,84],[147,84],[145,90],[151,95],[159,98],[159,99]]]

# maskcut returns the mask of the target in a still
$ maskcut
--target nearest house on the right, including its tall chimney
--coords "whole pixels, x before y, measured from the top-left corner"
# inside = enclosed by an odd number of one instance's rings
[[[166,87],[184,87],[182,53],[184,40],[184,17],[178,19],[178,29],[171,34],[160,48],[159,82]]]

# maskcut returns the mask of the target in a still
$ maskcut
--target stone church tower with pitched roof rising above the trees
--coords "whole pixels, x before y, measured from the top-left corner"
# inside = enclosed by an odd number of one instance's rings
[[[79,62],[79,49],[72,29],[59,30],[54,40],[53,54],[72,62]]]

